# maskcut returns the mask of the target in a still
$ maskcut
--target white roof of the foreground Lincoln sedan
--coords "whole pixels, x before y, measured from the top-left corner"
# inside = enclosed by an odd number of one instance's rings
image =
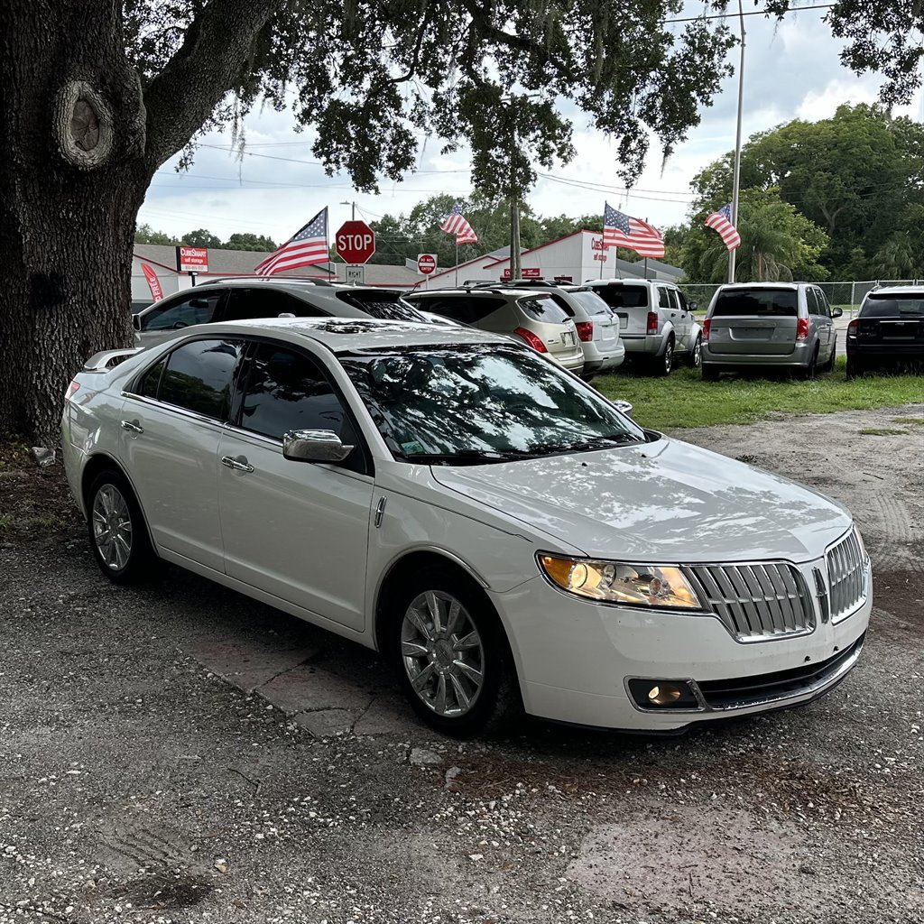
[[[208,334],[279,336],[321,343],[334,353],[375,347],[452,346],[456,344],[511,344],[510,337],[488,334],[474,327],[412,321],[379,321],[374,318],[260,318],[197,324],[197,337]]]

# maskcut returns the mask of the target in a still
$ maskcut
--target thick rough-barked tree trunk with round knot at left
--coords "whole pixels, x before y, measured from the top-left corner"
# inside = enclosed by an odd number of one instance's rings
[[[130,344],[144,160],[121,4],[7,0],[0,30],[0,434],[54,443],[65,388]]]

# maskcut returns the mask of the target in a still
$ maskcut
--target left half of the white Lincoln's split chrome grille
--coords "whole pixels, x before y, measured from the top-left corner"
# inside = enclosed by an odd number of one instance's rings
[[[690,565],[702,596],[739,641],[802,635],[815,628],[815,607],[793,565]]]

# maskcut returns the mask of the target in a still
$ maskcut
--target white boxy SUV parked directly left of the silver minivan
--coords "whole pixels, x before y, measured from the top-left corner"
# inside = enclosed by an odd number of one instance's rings
[[[653,279],[590,279],[585,286],[619,318],[627,360],[656,375],[670,375],[678,360],[699,366],[702,332],[677,286]]]

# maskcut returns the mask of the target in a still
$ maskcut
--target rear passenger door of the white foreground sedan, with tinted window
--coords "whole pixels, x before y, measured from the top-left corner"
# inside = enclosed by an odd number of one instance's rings
[[[221,571],[216,468],[243,343],[203,338],[177,347],[127,395],[121,449],[160,549]]]

